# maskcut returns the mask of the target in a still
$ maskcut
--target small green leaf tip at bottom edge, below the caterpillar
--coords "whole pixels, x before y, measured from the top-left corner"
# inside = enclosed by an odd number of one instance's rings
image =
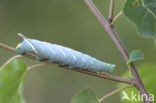
[[[99,101],[95,92],[88,88],[74,96],[71,103],[99,103]]]

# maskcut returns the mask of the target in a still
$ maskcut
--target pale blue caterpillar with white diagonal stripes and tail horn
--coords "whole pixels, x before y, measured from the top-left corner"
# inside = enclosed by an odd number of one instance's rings
[[[114,64],[102,62],[71,48],[29,39],[21,33],[18,35],[23,38],[23,42],[17,45],[16,52],[21,55],[24,53],[32,54],[36,56],[38,61],[48,60],[50,63],[68,65],[70,69],[80,68],[92,72],[112,73],[115,68]]]

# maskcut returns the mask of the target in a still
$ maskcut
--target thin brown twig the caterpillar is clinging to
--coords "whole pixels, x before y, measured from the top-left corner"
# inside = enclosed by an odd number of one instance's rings
[[[15,52],[15,49],[12,49],[12,47],[10,47],[10,46],[8,46],[6,44],[5,44],[5,46],[3,46],[3,43],[0,43],[0,44],[2,45],[2,46],[0,46],[0,48],[4,48],[4,49],[9,50],[11,52]],[[30,59],[36,59],[36,57],[31,55],[31,54],[23,54],[22,56],[30,58]],[[41,62],[44,62],[46,64],[49,63],[47,60],[42,60]],[[55,64],[55,63],[49,63],[49,64]],[[122,83],[127,83],[127,84],[136,84],[136,82],[134,80],[121,78],[121,77],[114,76],[114,75],[111,75],[111,74],[96,73],[96,72],[91,72],[91,71],[87,71],[87,70],[82,70],[82,69],[79,69],[79,68],[69,69],[68,66],[60,66],[60,67],[62,67],[64,69],[73,70],[73,71],[77,71],[77,72],[80,72],[80,73],[92,75],[92,76],[99,77],[99,78],[109,79],[109,80],[112,80],[112,81],[117,81],[117,82],[122,82]]]

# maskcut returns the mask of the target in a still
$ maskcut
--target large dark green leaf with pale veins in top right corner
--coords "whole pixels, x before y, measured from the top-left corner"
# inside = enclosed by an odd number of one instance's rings
[[[143,37],[156,38],[156,0],[127,0],[123,11]]]

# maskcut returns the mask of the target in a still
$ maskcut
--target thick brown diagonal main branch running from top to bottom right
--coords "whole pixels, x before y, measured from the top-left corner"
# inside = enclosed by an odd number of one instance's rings
[[[123,45],[122,41],[120,40],[118,34],[115,32],[115,30],[111,27],[111,25],[106,21],[106,19],[103,17],[101,12],[97,9],[96,5],[93,3],[92,0],[85,0],[86,4],[89,6],[93,14],[97,17],[97,19],[100,21],[104,29],[108,32],[109,36],[113,40],[114,44],[116,45],[117,49],[120,51],[122,57],[124,58],[125,62],[128,62],[129,59],[129,53],[125,46]],[[146,94],[149,98],[149,94],[146,91],[146,88],[144,87],[144,84],[142,83],[142,80],[135,68],[135,65],[132,63],[130,66],[131,73],[134,77],[134,79],[137,81],[137,84],[135,87],[140,91],[141,94]],[[146,98],[144,97],[144,101],[146,103],[152,103],[150,101],[146,101]]]

